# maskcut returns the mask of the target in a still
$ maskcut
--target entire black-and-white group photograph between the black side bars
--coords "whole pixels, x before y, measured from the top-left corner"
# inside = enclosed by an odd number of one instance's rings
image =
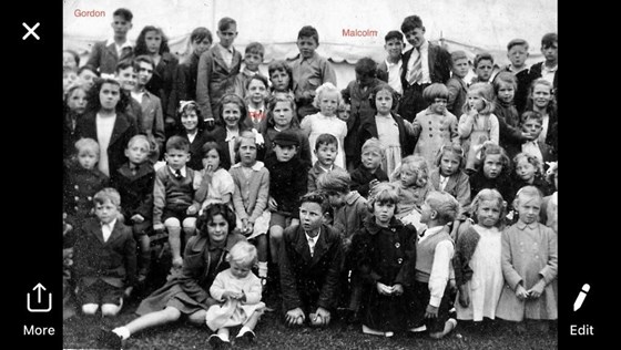
[[[559,347],[557,1],[62,16],[64,349]]]

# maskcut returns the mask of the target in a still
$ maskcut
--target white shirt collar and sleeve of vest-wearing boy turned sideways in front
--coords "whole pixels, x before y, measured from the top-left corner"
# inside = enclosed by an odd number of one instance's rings
[[[423,231],[423,236],[418,239],[418,241],[424,241],[425,239],[437,235],[442,230],[442,228],[444,226],[427,228]],[[429,305],[434,307],[440,306],[440,300],[442,299],[445,288],[450,277],[450,260],[452,259],[454,253],[455,247],[450,240],[442,240],[436,246],[434,265],[431,267],[431,274],[429,275]]]

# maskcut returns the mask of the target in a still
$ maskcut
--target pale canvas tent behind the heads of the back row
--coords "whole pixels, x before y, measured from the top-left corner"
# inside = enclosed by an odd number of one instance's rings
[[[253,41],[264,44],[263,71],[272,60],[295,56],[298,30],[313,25],[319,32],[317,51],[333,62],[339,87],[354,79],[358,59],[384,60],[384,35],[399,30],[410,14],[423,19],[428,40],[441,42],[449,52],[465,50],[470,58],[488,51],[498,65],[508,63],[507,43],[516,38],[530,43],[527,63],[542,61],[541,37],[558,31],[556,0],[65,0],[64,49],[78,51],[84,63],[92,43],[112,34],[112,12],[118,8],[134,13],[130,40],[135,41],[144,25],[157,25],[179,55],[186,54],[194,28],[208,28],[215,41],[217,20],[231,17],[237,21],[237,50],[243,52]],[[77,10],[105,16],[77,17]],[[346,30],[368,35],[348,37]]]

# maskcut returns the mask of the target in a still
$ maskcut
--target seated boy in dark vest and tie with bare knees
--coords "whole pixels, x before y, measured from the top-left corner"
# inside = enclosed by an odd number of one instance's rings
[[[195,171],[187,167],[190,161],[190,144],[181,136],[172,136],[166,141],[164,153],[166,165],[155,172],[153,186],[153,230],[169,233],[171,245],[172,267],[181,269],[182,241],[194,234],[196,213],[200,204],[194,200]],[[181,229],[185,234],[182,240]]]

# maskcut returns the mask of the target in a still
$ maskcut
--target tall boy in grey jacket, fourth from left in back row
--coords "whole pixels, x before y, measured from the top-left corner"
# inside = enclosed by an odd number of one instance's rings
[[[196,78],[196,102],[205,120],[221,121],[216,113],[220,99],[235,91],[235,76],[240,73],[242,54],[233,47],[237,38],[237,22],[224,17],[217,22],[220,42],[201,54]]]

